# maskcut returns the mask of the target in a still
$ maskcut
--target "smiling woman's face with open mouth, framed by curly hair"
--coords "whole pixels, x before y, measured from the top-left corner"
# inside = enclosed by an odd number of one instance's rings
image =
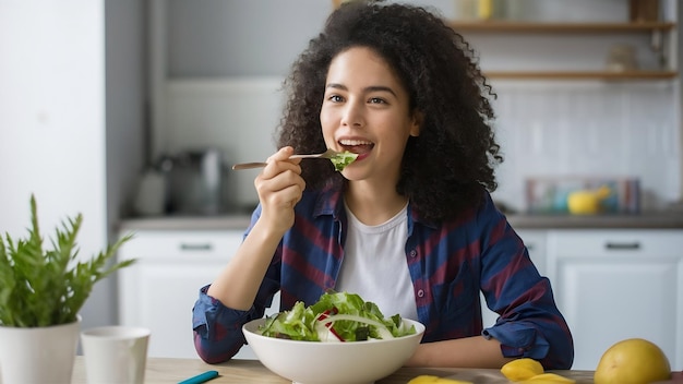
[[[354,47],[332,60],[320,121],[328,148],[359,155],[345,178],[395,185],[408,137],[419,134],[408,106],[407,91],[373,50]]]

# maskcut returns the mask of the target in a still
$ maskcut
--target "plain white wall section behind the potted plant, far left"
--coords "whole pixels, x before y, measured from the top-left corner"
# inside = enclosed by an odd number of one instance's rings
[[[143,4],[0,0],[0,232],[26,233],[34,193],[46,245],[79,213],[81,257],[111,239],[143,165]],[[116,321],[113,284],[83,327]]]

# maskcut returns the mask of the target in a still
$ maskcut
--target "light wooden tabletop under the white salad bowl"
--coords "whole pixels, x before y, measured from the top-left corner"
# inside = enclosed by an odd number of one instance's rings
[[[263,384],[288,384],[290,381],[283,379],[268,371],[257,360],[230,360],[221,364],[207,364],[200,359],[168,359],[148,358],[145,383],[164,384],[178,383],[188,377],[206,371],[218,371],[219,376],[207,384],[221,383],[263,383]],[[577,384],[592,383],[591,371],[553,371],[566,377],[576,380]],[[376,384],[406,384],[410,379],[421,374],[431,374],[441,377],[468,380],[474,383],[511,383],[499,370],[482,369],[430,369],[430,368],[402,368],[388,377],[382,379]],[[76,357],[73,370],[72,384],[85,384],[85,364],[82,356]]]

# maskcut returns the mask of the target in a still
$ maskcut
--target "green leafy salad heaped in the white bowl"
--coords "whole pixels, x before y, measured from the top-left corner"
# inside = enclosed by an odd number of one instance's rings
[[[305,307],[297,301],[291,310],[266,319],[263,336],[307,341],[360,341],[388,339],[416,333],[400,315],[385,319],[378,305],[356,293],[329,290]]]

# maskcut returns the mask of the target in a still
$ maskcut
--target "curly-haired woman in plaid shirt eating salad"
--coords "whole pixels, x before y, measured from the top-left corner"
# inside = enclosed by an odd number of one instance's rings
[[[568,369],[573,343],[550,283],[493,205],[502,161],[490,87],[462,36],[410,5],[349,2],[286,80],[278,147],[255,179],[244,241],[194,307],[199,355],[243,345],[241,325],[359,293],[427,327],[408,361],[500,368],[529,357]],[[342,172],[295,153],[350,151]],[[483,329],[479,292],[500,314]]]

